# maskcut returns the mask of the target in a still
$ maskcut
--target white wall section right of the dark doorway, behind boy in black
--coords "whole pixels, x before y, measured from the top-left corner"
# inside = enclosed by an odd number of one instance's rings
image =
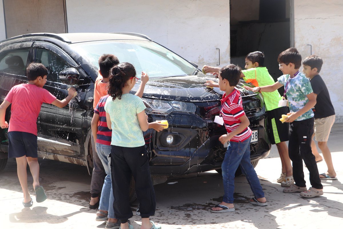
[[[343,122],[343,1],[294,0],[295,47],[303,59],[316,54],[323,59],[320,75],[335,108],[336,122]],[[302,69],[302,68],[300,68]]]

